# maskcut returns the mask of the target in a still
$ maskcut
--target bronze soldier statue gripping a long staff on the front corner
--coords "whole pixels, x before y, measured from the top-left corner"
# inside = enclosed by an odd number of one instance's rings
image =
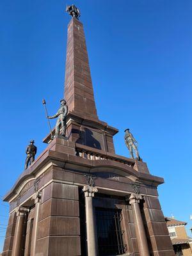
[[[56,122],[56,127],[55,127],[55,135],[58,136],[60,135],[60,126],[61,126],[61,135],[65,137],[66,133],[66,116],[68,113],[68,106],[66,105],[66,101],[64,99],[60,100],[61,106],[58,109],[58,113],[54,116],[47,116],[49,119],[57,118],[58,120]]]

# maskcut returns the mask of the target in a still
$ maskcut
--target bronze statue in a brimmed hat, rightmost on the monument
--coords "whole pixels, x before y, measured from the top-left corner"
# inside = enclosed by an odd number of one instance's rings
[[[127,148],[129,149],[131,158],[134,159],[134,155],[133,155],[133,150],[136,154],[136,159],[141,160],[139,152],[138,152],[138,147],[136,145],[137,141],[135,140],[135,138],[133,137],[132,133],[129,132],[129,129],[125,130],[125,144],[127,146]]]

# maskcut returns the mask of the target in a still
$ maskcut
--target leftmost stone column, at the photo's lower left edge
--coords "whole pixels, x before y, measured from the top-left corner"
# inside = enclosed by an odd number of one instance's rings
[[[22,232],[24,227],[24,221],[25,221],[26,213],[29,212],[29,210],[24,207],[18,207],[15,212],[17,212],[17,221],[15,226],[12,256],[20,256],[22,253],[21,245],[22,245],[22,235],[23,235]]]

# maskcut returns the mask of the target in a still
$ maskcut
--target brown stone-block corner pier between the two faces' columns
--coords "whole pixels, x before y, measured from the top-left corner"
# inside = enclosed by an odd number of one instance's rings
[[[78,187],[52,182],[42,195],[37,255],[81,255]]]

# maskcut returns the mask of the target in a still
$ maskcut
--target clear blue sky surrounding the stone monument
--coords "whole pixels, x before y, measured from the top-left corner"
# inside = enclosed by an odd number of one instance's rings
[[[124,129],[139,142],[153,175],[164,177],[165,216],[187,221],[191,208],[191,0],[2,0],[0,4],[1,186],[24,169],[33,138],[38,154],[63,95],[67,4],[81,10],[100,120],[119,129],[116,154],[128,156]],[[51,122],[52,126],[54,121]],[[0,251],[8,207],[0,202]],[[1,216],[3,215],[3,216]]]

